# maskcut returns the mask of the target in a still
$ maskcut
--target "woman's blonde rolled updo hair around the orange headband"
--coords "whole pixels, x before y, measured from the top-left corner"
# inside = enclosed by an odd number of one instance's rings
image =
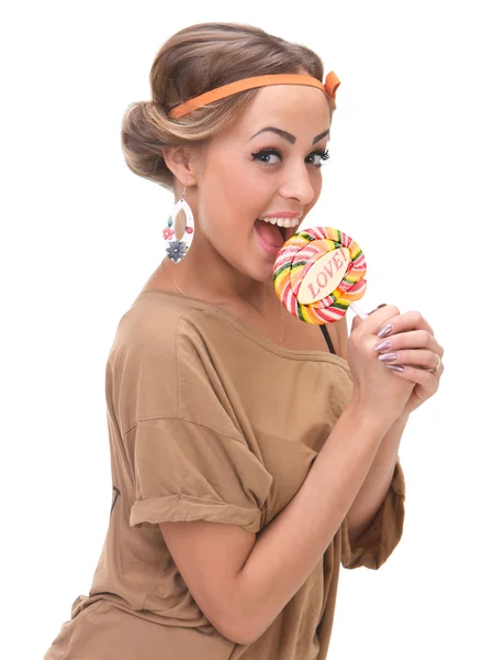
[[[254,99],[242,91],[170,119],[169,111],[200,94],[251,76],[306,73],[322,81],[322,59],[300,44],[240,23],[200,23],[171,36],[149,74],[150,101],[131,103],[122,119],[121,146],[127,167],[175,193],[175,177],[163,150],[202,146]],[[333,110],[327,103],[329,112]]]

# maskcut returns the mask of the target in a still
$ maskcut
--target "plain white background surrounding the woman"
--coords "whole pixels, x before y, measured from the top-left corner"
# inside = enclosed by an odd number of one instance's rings
[[[336,72],[332,157],[306,226],[360,243],[361,307],[421,310],[446,350],[440,389],[400,448],[403,538],[379,571],[341,571],[329,658],[504,657],[499,4],[24,2],[3,14],[2,658],[42,658],[90,587],[111,506],[105,362],[164,256],[173,201],[127,169],[120,122],[149,98],[160,45],[206,21],[256,24]]]

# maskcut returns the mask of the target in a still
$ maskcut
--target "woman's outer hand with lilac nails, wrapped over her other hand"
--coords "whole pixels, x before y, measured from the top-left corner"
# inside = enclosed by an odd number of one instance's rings
[[[377,339],[374,345],[377,360],[382,361],[383,365],[390,365],[388,371],[397,377],[415,383],[401,414],[401,417],[407,417],[436,394],[444,372],[439,360],[443,359],[445,350],[419,311],[393,316],[382,324],[377,334],[380,330],[383,330],[382,337]],[[440,367],[437,374],[429,371],[438,364]]]

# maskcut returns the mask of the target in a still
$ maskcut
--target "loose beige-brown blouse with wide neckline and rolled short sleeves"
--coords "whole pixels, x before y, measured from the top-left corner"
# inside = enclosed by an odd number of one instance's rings
[[[45,659],[134,660],[149,644],[149,660],[324,660],[340,564],[378,569],[401,539],[399,461],[369,530],[350,544],[345,518],[305,583],[247,646],[206,619],[158,522],[259,532],[300,488],[351,388],[338,355],[281,348],[201,300],[142,293],[107,363],[109,529],[89,594],[75,601]]]

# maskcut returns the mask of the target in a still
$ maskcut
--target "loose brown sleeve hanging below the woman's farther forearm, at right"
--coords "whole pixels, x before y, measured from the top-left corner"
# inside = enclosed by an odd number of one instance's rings
[[[348,519],[341,527],[341,565],[345,569],[379,569],[401,540],[404,527],[405,482],[400,460],[395,464],[389,492],[371,525],[350,543]]]

